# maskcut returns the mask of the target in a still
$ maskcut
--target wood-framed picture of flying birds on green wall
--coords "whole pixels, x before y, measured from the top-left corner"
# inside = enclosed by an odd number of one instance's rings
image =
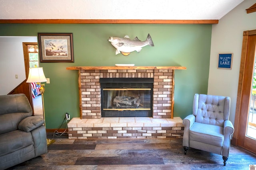
[[[41,63],[74,63],[73,33],[38,33]]]

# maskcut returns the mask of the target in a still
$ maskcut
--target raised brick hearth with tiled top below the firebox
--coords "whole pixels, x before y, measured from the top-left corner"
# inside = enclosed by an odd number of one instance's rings
[[[74,117],[68,123],[69,139],[182,138],[183,132],[184,125],[180,117]]]

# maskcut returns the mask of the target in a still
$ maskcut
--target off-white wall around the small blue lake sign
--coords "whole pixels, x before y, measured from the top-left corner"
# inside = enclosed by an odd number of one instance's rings
[[[212,44],[208,94],[230,96],[230,121],[234,125],[236,97],[242,52],[243,31],[256,29],[256,12],[247,14],[246,9],[255,0],[245,0],[212,25]],[[233,53],[232,69],[218,69],[218,53]]]

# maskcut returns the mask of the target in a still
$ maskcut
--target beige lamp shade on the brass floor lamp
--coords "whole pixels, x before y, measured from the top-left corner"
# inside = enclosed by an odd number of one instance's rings
[[[46,82],[42,67],[29,68],[27,83]]]

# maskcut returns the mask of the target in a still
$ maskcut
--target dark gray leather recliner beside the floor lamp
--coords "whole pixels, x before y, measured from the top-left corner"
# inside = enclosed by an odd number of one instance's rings
[[[24,94],[0,96],[0,170],[47,152],[43,124]]]

